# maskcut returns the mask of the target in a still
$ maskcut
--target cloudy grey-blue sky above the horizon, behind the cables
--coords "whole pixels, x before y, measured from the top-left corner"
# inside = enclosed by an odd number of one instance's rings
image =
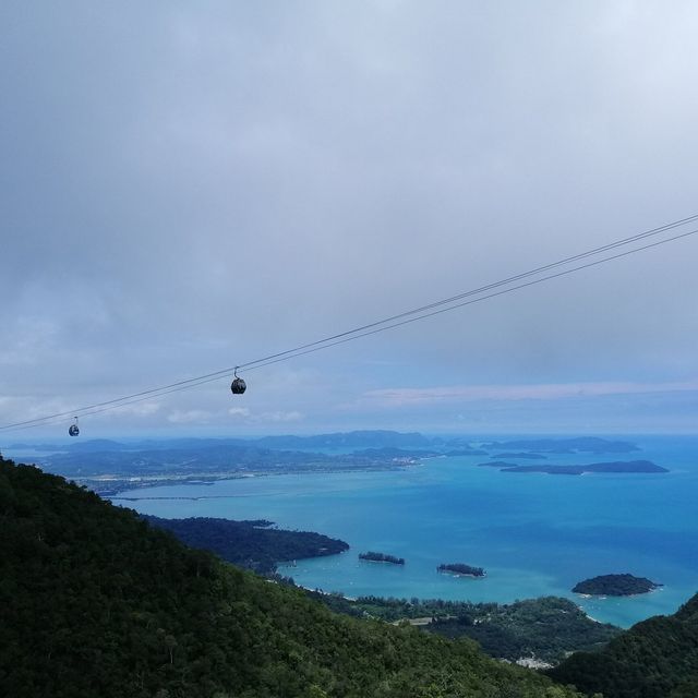
[[[0,26],[0,426],[698,213],[688,0],[5,0]],[[694,432],[697,258],[687,237],[82,433]]]

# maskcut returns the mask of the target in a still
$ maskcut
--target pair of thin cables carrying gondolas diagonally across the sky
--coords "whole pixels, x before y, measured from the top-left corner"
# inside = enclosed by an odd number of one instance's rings
[[[260,359],[255,359],[253,361],[249,361],[246,363],[241,363],[238,364],[234,368],[228,368],[228,369],[224,369],[220,371],[215,371],[213,373],[207,373],[201,376],[195,376],[192,378],[185,378],[183,381],[178,381],[174,383],[170,383],[168,385],[165,386],[160,386],[160,387],[156,387],[156,388],[149,388],[146,390],[141,390],[139,393],[134,393],[131,395],[127,395],[120,398],[115,398],[111,400],[105,400],[103,402],[96,402],[94,405],[88,405],[82,408],[74,408],[70,411],[65,411],[65,412],[57,412],[55,414],[49,414],[49,416],[45,416],[45,417],[39,417],[39,418],[35,418],[35,419],[31,419],[31,420],[25,420],[22,422],[15,422],[12,424],[4,424],[4,425],[0,425],[0,431],[8,431],[8,430],[22,430],[22,429],[31,429],[33,426],[38,426],[38,425],[45,425],[45,424],[49,424],[51,422],[55,421],[59,421],[59,420],[63,420],[64,418],[69,417],[69,416],[75,416],[75,414],[80,414],[81,417],[85,417],[85,416],[92,416],[92,414],[98,414],[101,412],[106,412],[106,411],[110,411],[110,410],[115,410],[118,409],[120,407],[127,407],[136,402],[142,402],[145,401],[147,399],[152,399],[152,398],[157,398],[157,397],[163,397],[165,395],[169,395],[171,393],[177,393],[177,392],[181,392],[181,390],[185,390],[188,388],[192,388],[192,387],[197,387],[200,385],[203,385],[205,383],[210,383],[213,381],[217,381],[222,376],[228,376],[231,373],[234,373],[234,378],[233,383],[231,384],[231,390],[234,394],[241,394],[244,393],[244,387],[242,387],[242,389],[240,389],[240,383],[238,383],[238,389],[232,389],[233,385],[236,385],[236,381],[241,382],[241,384],[244,386],[244,381],[242,378],[240,378],[237,375],[237,371],[239,370],[246,370],[246,371],[254,371],[256,369],[261,369],[267,365],[272,365],[274,363],[279,363],[282,361],[288,361],[290,359],[294,359],[297,357],[301,357],[304,354],[309,354],[309,353],[314,353],[316,351],[321,351],[323,349],[328,349],[330,347],[335,347],[337,345],[341,345],[341,344],[346,344],[348,341],[353,341],[354,339],[359,339],[361,337],[366,337],[370,335],[374,335],[374,334],[378,334],[382,332],[386,332],[388,329],[394,329],[396,327],[400,327],[402,325],[408,325],[421,320],[425,320],[428,317],[432,317],[434,315],[438,315],[442,313],[446,313],[449,312],[452,310],[456,310],[466,305],[471,305],[473,303],[479,303],[481,301],[491,299],[491,298],[495,298],[497,296],[503,296],[505,293],[510,293],[513,291],[516,290],[520,290],[522,288],[527,288],[529,286],[534,286],[538,284],[541,284],[543,281],[547,281],[554,278],[558,278],[562,276],[566,276],[568,274],[573,274],[575,272],[579,272],[581,269],[586,269],[586,268],[590,268],[593,266],[598,266],[600,264],[604,264],[606,262],[611,262],[613,260],[617,260],[621,257],[625,257],[631,254],[635,254],[636,252],[641,252],[643,250],[649,250],[651,248],[655,248],[662,244],[665,244],[667,242],[673,242],[675,240],[679,240],[682,238],[687,238],[689,236],[696,234],[698,232],[698,229],[695,230],[690,230],[688,232],[683,232],[670,238],[665,238],[662,240],[658,240],[645,245],[641,245],[639,248],[633,248],[631,250],[627,250],[625,252],[621,252],[614,255],[610,255],[610,256],[604,256],[600,260],[594,260],[592,262],[588,262],[586,264],[582,265],[578,265],[568,269],[564,269],[562,272],[556,272],[555,274],[550,274],[546,276],[542,276],[529,281],[526,281],[524,284],[518,284],[516,286],[508,286],[507,288],[502,289],[503,286],[507,286],[510,285],[515,281],[518,280],[522,280],[526,278],[529,278],[531,276],[534,276],[537,274],[541,274],[542,272],[546,272],[546,270],[552,270],[554,268],[557,268],[562,265],[565,264],[569,264],[571,262],[576,262],[576,261],[582,261],[586,260],[590,256],[593,255],[598,255],[601,254],[603,252],[610,252],[612,250],[616,250],[621,246],[625,246],[628,245],[633,242],[639,242],[641,240],[646,240],[648,238],[652,238],[655,237],[658,234],[661,234],[662,232],[666,232],[669,230],[673,230],[677,227],[681,226],[685,226],[689,222],[694,222],[698,220],[698,214],[686,217],[686,218],[682,218],[679,220],[666,224],[664,226],[661,226],[659,228],[653,228],[651,230],[638,233],[636,236],[631,236],[629,238],[624,238],[622,240],[617,240],[615,242],[611,242],[609,244],[602,245],[600,248],[594,248],[593,250],[589,250],[587,252],[582,252],[573,256],[568,256],[565,257],[563,260],[559,260],[557,262],[553,262],[551,264],[546,264],[540,267],[537,267],[534,269],[530,269],[528,272],[524,272],[521,274],[517,274],[515,276],[510,276],[508,278],[505,279],[501,279],[498,281],[492,282],[492,284],[488,284],[485,286],[479,287],[477,289],[471,289],[469,291],[465,291],[462,293],[458,293],[456,296],[452,296],[449,298],[446,299],[442,299],[440,301],[435,301],[433,303],[430,303],[428,305],[422,305],[420,308],[416,308],[402,313],[399,313],[397,315],[392,315],[389,317],[385,317],[381,321],[376,321],[376,322],[372,322],[359,327],[354,327],[353,329],[349,329],[342,333],[338,333],[328,337],[325,337],[323,339],[317,339],[315,341],[312,342],[308,342],[304,345],[300,345],[298,347],[294,347],[293,349],[288,349],[286,351],[280,351],[277,353],[273,353]],[[494,289],[501,289],[501,290],[494,290]],[[486,293],[484,296],[481,296],[481,293],[484,293],[485,291],[494,291],[491,293]],[[477,298],[472,298],[473,296],[477,296]],[[469,299],[469,300],[464,300],[464,299]],[[460,302],[457,302],[460,301]],[[436,310],[435,310],[436,309]],[[426,312],[429,311],[429,312]],[[399,321],[399,322],[396,322]],[[245,386],[246,387],[246,386]],[[77,428],[77,417],[73,417],[73,419],[75,420],[73,426],[75,426],[75,429]],[[71,428],[72,429],[72,428]],[[76,435],[76,434],[75,434]]]

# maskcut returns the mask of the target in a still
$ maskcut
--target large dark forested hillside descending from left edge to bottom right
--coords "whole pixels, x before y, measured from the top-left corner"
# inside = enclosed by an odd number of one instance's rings
[[[0,695],[576,696],[469,640],[336,615],[0,458]]]

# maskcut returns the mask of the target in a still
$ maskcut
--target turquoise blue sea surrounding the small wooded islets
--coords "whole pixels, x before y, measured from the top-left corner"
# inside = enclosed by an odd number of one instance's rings
[[[550,455],[531,464],[648,459],[665,474],[504,473],[482,456],[433,458],[400,471],[250,477],[122,493],[115,503],[169,518],[265,518],[281,528],[347,541],[340,555],[299,559],[280,571],[297,583],[349,597],[418,597],[508,603],[546,594],[574,599],[623,627],[673,613],[698,592],[698,438],[628,437],[641,452]],[[507,459],[514,461],[515,459]],[[151,498],[155,497],[155,498]],[[368,550],[405,566],[361,562]],[[484,567],[480,579],[436,571]],[[628,598],[585,599],[577,581],[630,573],[664,586]]]

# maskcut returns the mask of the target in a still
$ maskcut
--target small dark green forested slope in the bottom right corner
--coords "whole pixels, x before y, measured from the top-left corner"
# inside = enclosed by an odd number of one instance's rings
[[[600,652],[579,652],[551,676],[605,698],[698,696],[698,595],[674,615],[634,625]]]

